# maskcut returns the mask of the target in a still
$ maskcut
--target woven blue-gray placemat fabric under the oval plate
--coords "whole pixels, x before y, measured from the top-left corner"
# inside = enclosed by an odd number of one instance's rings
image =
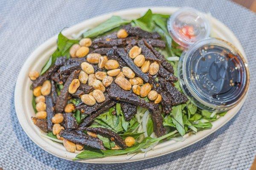
[[[57,158],[34,144],[14,106],[17,75],[26,58],[64,27],[111,11],[144,6],[191,6],[226,24],[250,65],[250,92],[241,111],[207,138],[174,153],[125,164],[86,164]],[[256,155],[256,15],[228,0],[0,0],[0,167],[4,170],[249,169]],[[17,82],[19,83],[19,82]]]

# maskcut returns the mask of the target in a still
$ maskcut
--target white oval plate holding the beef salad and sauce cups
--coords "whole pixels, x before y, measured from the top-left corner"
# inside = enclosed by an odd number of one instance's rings
[[[113,15],[120,16],[124,19],[135,19],[140,17],[142,14],[145,13],[145,11],[148,10],[148,8],[133,8],[133,9],[127,9],[122,11],[113,12],[110,14],[104,14],[99,17],[94,17],[89,20],[85,20],[82,23],[76,24],[75,26],[72,26],[70,28],[65,29],[62,33],[67,36],[71,37],[73,34],[78,34],[80,31],[84,30],[85,28],[93,28],[99,23],[104,22],[108,18],[110,18]],[[174,11],[176,11],[178,8],[172,8],[172,7],[151,7],[150,8],[154,13],[160,13],[160,14],[172,14]],[[219,37],[224,40],[227,40],[231,42],[233,45],[236,46],[236,48],[241,51],[242,55],[245,57],[244,50],[240,44],[240,42],[237,40],[235,35],[232,31],[230,31],[227,26],[225,26],[223,23],[218,21],[217,19],[209,16],[209,20],[212,23],[212,36],[213,37]],[[17,83],[15,87],[15,109],[17,113],[17,117],[19,119],[20,125],[22,126],[23,130],[26,132],[26,134],[29,136],[29,138],[35,142],[39,147],[46,150],[47,152],[51,153],[52,155],[58,156],[63,159],[72,160],[79,152],[76,153],[70,153],[65,150],[62,144],[58,144],[57,142],[52,142],[52,140],[42,137],[41,130],[36,127],[33,122],[31,121],[31,116],[35,116],[34,110],[32,108],[32,91],[30,90],[30,85],[32,82],[28,78],[29,71],[37,70],[41,71],[41,68],[43,67],[44,63],[47,62],[50,55],[55,51],[57,45],[57,35],[50,38],[46,42],[44,42],[42,45],[40,45],[35,51],[28,57],[26,62],[24,63],[23,67],[20,70],[20,74],[17,78]],[[246,95],[247,96],[247,95]],[[233,116],[238,113],[239,109],[242,107],[242,104],[244,103],[244,99],[232,110],[228,111],[228,113],[220,117],[215,122],[212,122],[212,128],[209,130],[203,130],[195,135],[188,136],[186,134],[184,138],[186,138],[183,142],[175,142],[175,141],[166,141],[163,143],[158,144],[154,150],[148,151],[146,156],[144,157],[144,153],[138,153],[137,155],[133,156],[131,159],[128,159],[131,157],[127,155],[120,155],[120,156],[110,156],[106,158],[101,159],[90,159],[90,160],[83,160],[80,162],[87,162],[87,163],[121,163],[121,162],[132,162],[132,161],[140,161],[145,160],[149,158],[154,158],[157,156],[162,156],[167,153],[174,152],[176,150],[180,150],[184,147],[187,147],[191,144],[194,144],[195,142],[200,141],[201,139],[204,139],[211,133],[218,130],[220,127],[225,125],[230,119],[233,118]]]

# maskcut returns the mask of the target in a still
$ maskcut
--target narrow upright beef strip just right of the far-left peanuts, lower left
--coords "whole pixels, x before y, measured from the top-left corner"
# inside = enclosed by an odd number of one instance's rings
[[[54,116],[54,108],[51,96],[45,96],[46,112],[47,112],[47,128],[52,131],[52,117]]]

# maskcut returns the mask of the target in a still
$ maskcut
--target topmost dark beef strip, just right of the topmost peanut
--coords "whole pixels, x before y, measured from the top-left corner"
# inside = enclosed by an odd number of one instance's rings
[[[137,37],[142,37],[142,38],[160,38],[160,35],[158,33],[150,33],[147,31],[142,30],[139,27],[131,27],[131,25],[124,26],[125,31],[129,35],[137,36]]]

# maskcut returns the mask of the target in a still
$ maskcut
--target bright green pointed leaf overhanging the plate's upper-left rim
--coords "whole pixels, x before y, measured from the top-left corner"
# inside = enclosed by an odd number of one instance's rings
[[[61,56],[66,56],[67,58],[70,57],[69,54],[69,49],[70,47],[75,44],[78,43],[79,40],[70,40],[67,37],[65,37],[63,34],[61,34],[61,32],[58,34],[58,42],[57,42],[57,49],[56,51],[52,54],[52,56],[49,58],[49,60],[47,61],[47,63],[44,65],[42,71],[41,71],[41,75],[45,73],[45,71],[47,71],[56,61],[56,59],[58,57]]]

